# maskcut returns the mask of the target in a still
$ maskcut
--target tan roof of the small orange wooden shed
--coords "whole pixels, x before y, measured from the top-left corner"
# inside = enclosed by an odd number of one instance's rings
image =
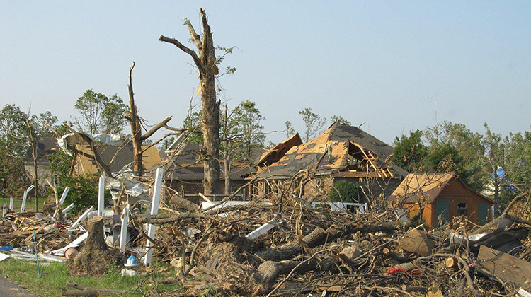
[[[439,197],[447,185],[455,181],[460,182],[468,190],[493,204],[490,199],[465,185],[455,173],[410,173],[396,187],[389,199],[404,199],[404,203],[418,203],[424,200],[430,204]]]

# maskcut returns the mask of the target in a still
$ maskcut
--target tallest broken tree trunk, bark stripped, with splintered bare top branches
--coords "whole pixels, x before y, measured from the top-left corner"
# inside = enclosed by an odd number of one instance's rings
[[[198,67],[201,82],[202,101],[202,157],[205,168],[205,194],[221,194],[221,181],[219,180],[219,101],[216,100],[215,75],[219,72],[216,66],[215,47],[212,42],[212,32],[207,22],[205,10],[201,9],[202,37],[195,33],[190,21],[185,24],[190,31],[191,40],[198,47],[198,52],[190,50],[176,39],[161,35],[159,40],[176,45],[183,52],[192,57]]]

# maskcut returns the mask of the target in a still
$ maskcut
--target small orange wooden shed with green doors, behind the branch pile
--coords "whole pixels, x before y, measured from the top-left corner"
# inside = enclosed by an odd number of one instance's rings
[[[423,219],[430,228],[451,222],[455,216],[484,225],[491,221],[494,202],[470,189],[455,173],[411,173],[394,190],[390,200],[404,202],[411,217],[424,204]]]

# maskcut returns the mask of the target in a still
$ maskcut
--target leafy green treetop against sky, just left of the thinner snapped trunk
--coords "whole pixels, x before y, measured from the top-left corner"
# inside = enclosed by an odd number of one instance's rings
[[[87,90],[74,105],[81,117],[74,118],[77,128],[92,134],[107,132],[120,134],[127,123],[127,107],[118,95],[110,97]]]

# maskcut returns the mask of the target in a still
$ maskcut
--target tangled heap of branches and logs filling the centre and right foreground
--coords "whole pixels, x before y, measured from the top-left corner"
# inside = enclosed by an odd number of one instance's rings
[[[529,197],[515,200],[523,198]],[[166,281],[183,284],[192,296],[205,288],[227,296],[505,296],[531,291],[531,221],[510,216],[510,207],[488,226],[479,228],[460,217],[427,231],[396,219],[383,206],[378,213],[353,214],[313,209],[300,200],[227,202],[215,212],[198,207],[196,212],[181,209],[133,219],[158,225],[154,259],[176,267],[176,277]],[[268,225],[273,228],[249,236]]]

